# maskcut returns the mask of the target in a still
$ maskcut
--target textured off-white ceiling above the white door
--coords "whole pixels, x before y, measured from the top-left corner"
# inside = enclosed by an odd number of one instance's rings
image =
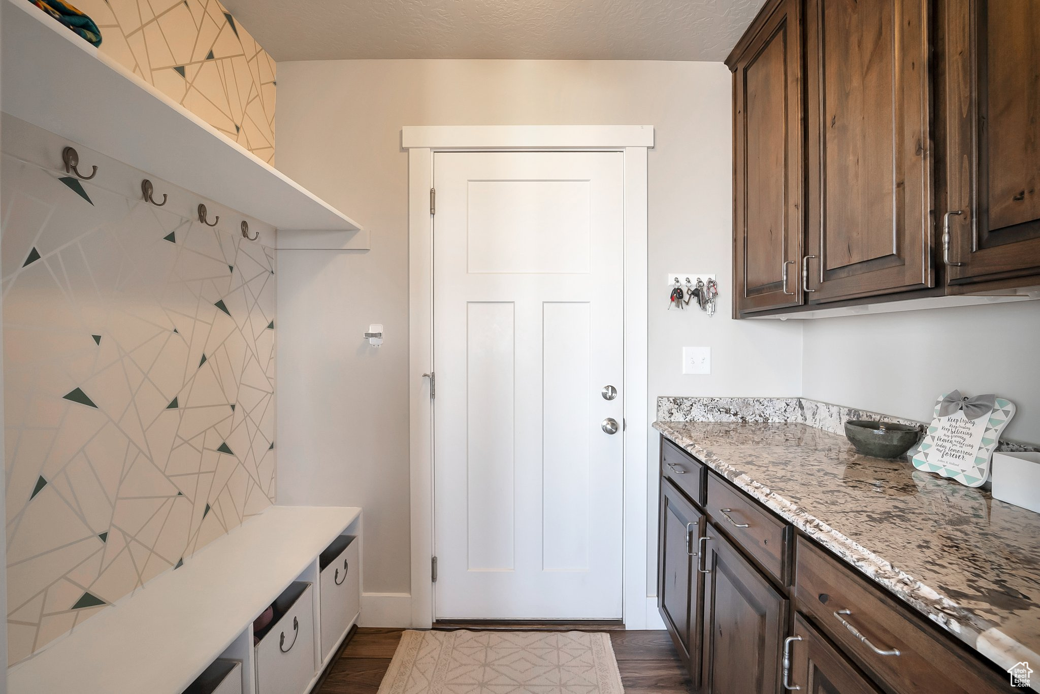
[[[722,60],[764,0],[225,0],[276,60]]]

